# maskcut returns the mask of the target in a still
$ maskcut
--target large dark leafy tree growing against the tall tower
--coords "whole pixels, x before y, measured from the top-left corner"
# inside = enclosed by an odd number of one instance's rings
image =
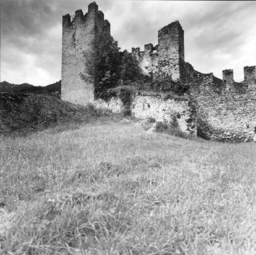
[[[96,36],[92,48],[84,52],[85,71],[79,75],[94,84],[96,98],[108,97],[107,90],[119,86],[120,81],[134,82],[142,78],[137,58],[127,50],[119,50],[117,41],[103,32]]]

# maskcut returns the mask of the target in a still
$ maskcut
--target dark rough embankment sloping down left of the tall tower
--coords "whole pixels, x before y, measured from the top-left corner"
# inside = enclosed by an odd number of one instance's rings
[[[56,97],[0,93],[0,134],[26,134],[58,123],[86,123],[95,117],[93,107],[77,106]]]

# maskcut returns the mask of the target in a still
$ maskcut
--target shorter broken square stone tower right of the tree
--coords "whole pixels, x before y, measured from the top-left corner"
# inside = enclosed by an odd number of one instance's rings
[[[185,77],[184,31],[179,21],[158,31],[158,72],[170,75],[172,80],[183,82]]]

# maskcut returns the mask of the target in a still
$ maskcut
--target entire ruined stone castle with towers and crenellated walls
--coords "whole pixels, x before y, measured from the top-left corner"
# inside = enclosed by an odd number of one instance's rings
[[[95,98],[93,79],[84,80],[86,54],[92,50],[93,41],[104,32],[110,35],[110,24],[93,2],[88,12],[75,12],[63,16],[62,23],[61,99],[71,103],[109,107],[122,111],[122,102],[111,98],[108,102]],[[175,21],[158,31],[158,44],[132,48],[144,74],[151,77],[172,77],[180,83],[189,83],[189,100],[178,102],[161,96],[136,95],[131,101],[131,113],[137,117],[155,117],[171,123],[174,119],[179,128],[196,135],[203,132],[210,139],[220,141],[256,140],[256,68],[244,67],[244,81],[236,83],[233,69],[222,71],[223,79],[213,73],[196,71],[184,58],[184,31]],[[89,74],[85,73],[89,76]],[[191,102],[194,103],[191,103]],[[199,130],[200,129],[200,130]]]

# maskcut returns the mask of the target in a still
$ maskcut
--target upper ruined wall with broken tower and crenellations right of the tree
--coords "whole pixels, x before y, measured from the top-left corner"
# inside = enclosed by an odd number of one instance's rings
[[[174,81],[181,83],[214,82],[221,80],[212,73],[203,74],[196,71],[184,58],[184,31],[179,21],[170,23],[158,31],[158,44],[144,45],[144,51],[140,47],[131,48],[131,52],[137,57],[143,73],[156,78],[158,76],[172,77]]]

